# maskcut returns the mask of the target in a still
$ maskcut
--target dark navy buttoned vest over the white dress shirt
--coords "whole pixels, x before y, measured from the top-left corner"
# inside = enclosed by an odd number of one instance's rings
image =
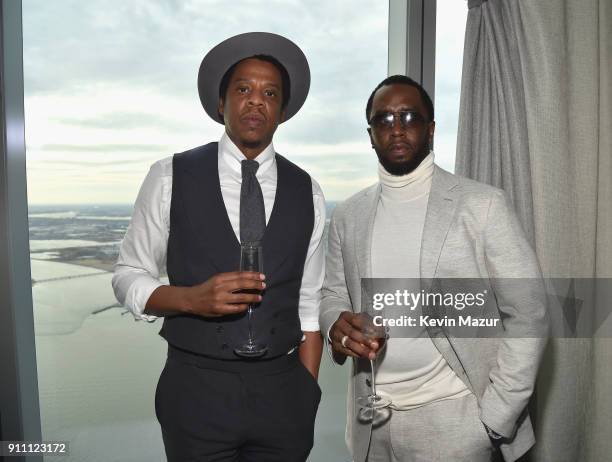
[[[210,143],[173,159],[167,254],[173,286],[193,286],[240,266],[240,243],[221,195],[217,152],[217,143]],[[252,318],[254,338],[268,346],[265,358],[286,354],[302,338],[298,304],[314,226],[310,176],[278,154],[276,166],[276,196],[262,244],[266,290]],[[184,350],[238,359],[234,348],[248,339],[248,325],[245,313],[220,318],[181,314],[167,316],[160,335]]]

